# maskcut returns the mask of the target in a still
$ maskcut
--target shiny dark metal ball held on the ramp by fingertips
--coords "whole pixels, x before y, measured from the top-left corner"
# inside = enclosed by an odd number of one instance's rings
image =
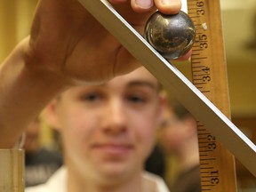
[[[185,12],[164,15],[155,12],[146,23],[145,38],[165,59],[186,54],[195,41],[196,28]]]

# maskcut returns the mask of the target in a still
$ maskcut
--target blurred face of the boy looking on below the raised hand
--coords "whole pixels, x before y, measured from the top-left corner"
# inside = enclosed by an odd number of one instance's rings
[[[75,87],[52,105],[67,164],[90,177],[140,172],[155,140],[164,98],[145,68],[107,84]]]

